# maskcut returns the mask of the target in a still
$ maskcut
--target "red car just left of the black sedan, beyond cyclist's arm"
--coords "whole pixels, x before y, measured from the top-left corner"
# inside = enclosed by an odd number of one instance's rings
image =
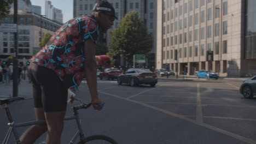
[[[100,73],[100,79],[117,79],[117,77],[123,73],[123,71],[117,69],[117,68],[106,68],[103,72]]]

